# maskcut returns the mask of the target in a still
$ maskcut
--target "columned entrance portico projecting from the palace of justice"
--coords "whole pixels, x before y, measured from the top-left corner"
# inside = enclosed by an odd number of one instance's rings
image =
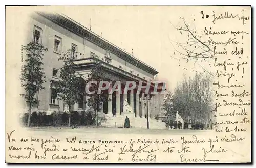
[[[133,74],[125,73],[125,71],[121,71],[118,67],[114,67],[111,64],[106,64],[104,61],[99,60],[98,58],[87,58],[75,61],[75,63],[79,65],[80,69],[80,71],[77,71],[77,74],[82,76],[82,78],[87,78],[90,74],[90,67],[96,61],[100,62],[104,67],[105,76],[109,79],[110,87],[113,87],[115,81],[120,81],[121,83],[121,93],[119,93],[118,91],[114,91],[113,94],[109,94],[108,102],[103,102],[100,104],[100,113],[108,114],[109,117],[112,117],[113,112],[115,111],[116,117],[122,116],[126,112],[124,111],[123,107],[125,100],[127,100],[127,103],[132,109],[132,113],[134,113],[134,117],[145,118],[147,115],[147,109],[148,113],[150,114],[150,101],[152,96],[154,96],[153,94],[144,93],[145,89],[143,88],[140,90],[139,93],[137,92],[138,88],[133,90],[127,90],[126,93],[124,93],[124,90],[126,81],[135,81],[136,85],[139,85],[139,82],[142,80],[143,86],[146,86],[147,82],[150,82],[150,90],[152,91],[154,89],[153,82],[141,79],[140,77]],[[146,103],[146,98],[148,103]],[[84,104],[86,104],[86,99],[84,99]],[[84,105],[84,107],[86,107],[86,105]]]

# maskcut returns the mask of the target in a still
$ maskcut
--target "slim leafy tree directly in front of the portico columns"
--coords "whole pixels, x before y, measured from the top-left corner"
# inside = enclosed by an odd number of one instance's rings
[[[100,64],[97,58],[94,58],[94,64],[92,65],[90,77],[87,79],[87,83],[91,81],[96,81],[91,83],[89,86],[89,91],[94,92],[92,94],[87,94],[90,98],[88,99],[88,105],[94,109],[95,112],[95,123],[98,126],[98,110],[103,105],[104,102],[108,101],[108,90],[102,90],[101,93],[98,93],[101,81],[108,81],[104,67]]]

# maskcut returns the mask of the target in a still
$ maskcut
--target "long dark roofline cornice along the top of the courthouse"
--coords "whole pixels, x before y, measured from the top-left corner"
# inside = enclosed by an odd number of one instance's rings
[[[145,63],[143,63],[142,61],[136,59],[135,57],[133,57],[133,55],[127,53],[126,51],[118,48],[117,46],[115,46],[114,44],[111,44],[110,42],[108,42],[107,40],[101,38],[100,36],[98,36],[97,34],[93,33],[92,31],[90,31],[89,29],[87,29],[86,27],[83,27],[81,25],[79,25],[78,23],[76,23],[75,21],[66,18],[60,14],[57,13],[45,13],[45,12],[36,12],[37,14],[39,14],[42,17],[45,17],[47,19],[49,19],[50,21],[58,24],[59,26],[67,29],[68,31],[83,37],[89,41],[91,41],[92,43],[111,51],[112,53],[116,54],[118,57],[122,58],[123,60],[133,64],[134,66],[137,66],[140,69],[143,69],[144,71],[152,74],[152,75],[156,75],[158,74],[158,72],[146,65]]]

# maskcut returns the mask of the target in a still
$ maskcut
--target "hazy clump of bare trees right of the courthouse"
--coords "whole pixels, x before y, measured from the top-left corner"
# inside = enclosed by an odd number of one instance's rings
[[[191,118],[209,120],[209,111],[212,107],[212,90],[210,78],[201,73],[193,78],[184,78],[177,84],[173,94],[168,94],[164,100],[164,107],[169,115],[179,111],[183,119]]]

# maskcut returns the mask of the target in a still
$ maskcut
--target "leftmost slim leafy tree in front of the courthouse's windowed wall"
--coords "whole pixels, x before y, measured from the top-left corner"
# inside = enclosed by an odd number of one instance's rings
[[[22,82],[22,87],[26,91],[26,94],[22,94],[21,96],[29,104],[29,115],[27,121],[27,127],[30,126],[30,118],[31,118],[31,109],[33,105],[38,104],[39,101],[35,98],[36,92],[39,92],[42,89],[45,89],[42,86],[42,83],[45,82],[45,73],[42,71],[43,65],[42,60],[44,59],[44,52],[48,51],[48,49],[38,43],[32,43],[25,45],[22,47],[26,53],[27,58],[25,59],[26,64],[22,67],[20,80]]]

